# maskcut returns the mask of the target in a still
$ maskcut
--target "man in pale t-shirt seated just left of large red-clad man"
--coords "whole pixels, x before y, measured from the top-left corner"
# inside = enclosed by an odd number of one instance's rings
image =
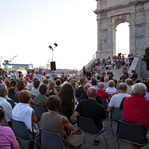
[[[110,112],[112,110],[112,107],[119,108],[121,101],[124,97],[129,97],[130,95],[127,94],[127,85],[126,83],[120,83],[118,86],[119,93],[112,96],[110,103],[108,105],[107,111]]]

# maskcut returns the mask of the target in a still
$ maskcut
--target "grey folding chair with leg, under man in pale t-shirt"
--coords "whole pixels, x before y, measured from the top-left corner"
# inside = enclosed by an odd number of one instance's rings
[[[110,127],[112,131],[112,135],[114,136],[113,133],[113,127],[112,127],[112,122],[118,122],[119,120],[122,120],[122,110],[119,108],[114,108],[112,107],[112,111],[110,113]]]

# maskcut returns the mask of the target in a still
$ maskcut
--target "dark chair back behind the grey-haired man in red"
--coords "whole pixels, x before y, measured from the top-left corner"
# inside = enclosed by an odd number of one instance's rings
[[[124,141],[137,145],[143,145],[147,143],[146,130],[147,128],[145,126],[119,120],[117,135]]]

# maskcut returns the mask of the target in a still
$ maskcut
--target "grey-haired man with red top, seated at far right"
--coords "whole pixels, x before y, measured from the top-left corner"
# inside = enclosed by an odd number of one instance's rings
[[[147,88],[143,83],[134,85],[133,95],[126,97],[123,101],[122,119],[124,121],[149,128],[149,100],[144,97],[146,91]],[[147,137],[149,137],[149,131]]]

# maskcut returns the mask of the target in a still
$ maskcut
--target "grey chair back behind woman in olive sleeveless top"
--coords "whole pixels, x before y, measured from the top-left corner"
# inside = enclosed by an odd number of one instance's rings
[[[40,144],[42,149],[64,149],[61,136],[57,133],[40,129]]]

